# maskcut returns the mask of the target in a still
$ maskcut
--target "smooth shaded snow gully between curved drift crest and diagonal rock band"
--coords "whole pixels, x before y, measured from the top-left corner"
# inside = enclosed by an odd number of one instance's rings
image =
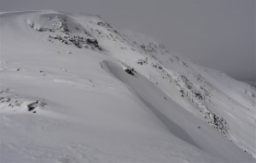
[[[103,61],[106,70],[108,70],[113,76],[117,77],[121,82],[127,84],[131,92],[134,93],[139,99],[142,100],[143,104],[148,107],[148,110],[151,110],[156,117],[166,126],[169,132],[175,135],[177,138],[181,138],[183,141],[190,143],[198,149],[207,151],[208,153],[218,156],[218,158],[223,158],[224,160],[232,161],[231,158],[236,157],[233,155],[234,151],[228,154],[229,152],[224,152],[224,154],[218,153],[218,148],[229,149],[231,144],[225,138],[216,137],[216,133],[211,133],[211,135],[205,135],[203,132],[210,133],[208,127],[196,126],[195,124],[200,124],[201,121],[195,119],[189,120],[188,117],[194,116],[190,115],[189,112],[180,108],[172,99],[165,98],[166,94],[163,93],[158,87],[155,87],[154,84],[144,76],[136,74],[131,76],[125,73],[126,67],[123,65],[123,68],[120,65],[117,65],[113,62]],[[189,123],[190,126],[188,127]],[[197,130],[196,130],[197,129]],[[192,131],[193,130],[193,131]],[[211,130],[211,129],[210,129]],[[201,141],[204,140],[204,141]],[[214,145],[209,143],[222,142],[218,144],[218,148],[215,149]],[[232,155],[232,156],[231,156]],[[242,161],[242,160],[236,160]]]

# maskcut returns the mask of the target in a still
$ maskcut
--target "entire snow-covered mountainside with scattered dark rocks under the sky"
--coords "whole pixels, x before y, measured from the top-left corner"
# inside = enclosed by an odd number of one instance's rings
[[[0,14],[1,163],[255,162],[255,88],[98,16]]]

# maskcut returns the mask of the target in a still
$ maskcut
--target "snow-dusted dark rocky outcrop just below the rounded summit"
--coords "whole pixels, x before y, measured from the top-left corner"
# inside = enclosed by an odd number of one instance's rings
[[[36,22],[27,20],[27,25],[36,31],[48,32],[49,42],[57,40],[76,48],[101,49],[96,38],[65,14],[43,14]]]

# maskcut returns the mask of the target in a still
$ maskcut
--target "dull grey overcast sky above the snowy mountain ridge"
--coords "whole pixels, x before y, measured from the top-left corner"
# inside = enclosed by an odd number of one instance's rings
[[[239,80],[255,81],[255,0],[0,0],[1,12],[53,9],[99,14]]]

